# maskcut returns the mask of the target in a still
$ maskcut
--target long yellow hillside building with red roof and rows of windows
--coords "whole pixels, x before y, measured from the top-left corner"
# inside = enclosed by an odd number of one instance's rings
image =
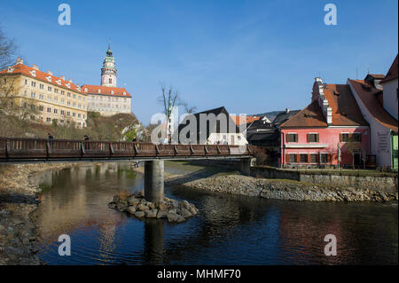
[[[12,114],[30,108],[32,122],[86,126],[87,95],[79,85],[64,75],[43,72],[37,65],[28,67],[22,59],[0,72],[0,96],[9,96]],[[4,99],[3,99],[4,100]]]

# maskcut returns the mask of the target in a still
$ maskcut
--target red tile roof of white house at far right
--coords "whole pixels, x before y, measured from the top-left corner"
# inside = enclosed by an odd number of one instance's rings
[[[384,127],[397,132],[397,120],[379,102],[380,90],[362,80],[348,80],[370,114]]]

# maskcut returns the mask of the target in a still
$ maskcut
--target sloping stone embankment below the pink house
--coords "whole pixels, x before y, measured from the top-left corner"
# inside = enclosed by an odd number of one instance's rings
[[[180,179],[181,180],[181,179]],[[398,200],[395,192],[359,189],[350,186],[314,185],[286,179],[264,179],[241,175],[207,177],[188,182],[167,181],[168,185],[183,185],[187,188],[208,192],[232,193],[277,200],[310,201],[389,201]]]

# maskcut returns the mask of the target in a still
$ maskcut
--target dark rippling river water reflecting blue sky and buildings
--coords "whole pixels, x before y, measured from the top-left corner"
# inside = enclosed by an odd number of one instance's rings
[[[172,163],[166,170],[176,173]],[[107,207],[121,190],[143,189],[129,163],[52,171],[40,184],[38,255],[48,264],[398,263],[397,202],[262,200],[167,187],[169,198],[200,208],[199,216],[168,224]],[[59,255],[61,234],[71,238],[71,255]],[[326,234],[337,239],[336,256],[324,253]]]

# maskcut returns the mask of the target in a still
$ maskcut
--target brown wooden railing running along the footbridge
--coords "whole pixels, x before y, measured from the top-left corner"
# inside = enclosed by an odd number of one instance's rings
[[[0,161],[9,159],[85,159],[168,156],[251,155],[249,145],[154,145],[115,141],[0,138]]]

